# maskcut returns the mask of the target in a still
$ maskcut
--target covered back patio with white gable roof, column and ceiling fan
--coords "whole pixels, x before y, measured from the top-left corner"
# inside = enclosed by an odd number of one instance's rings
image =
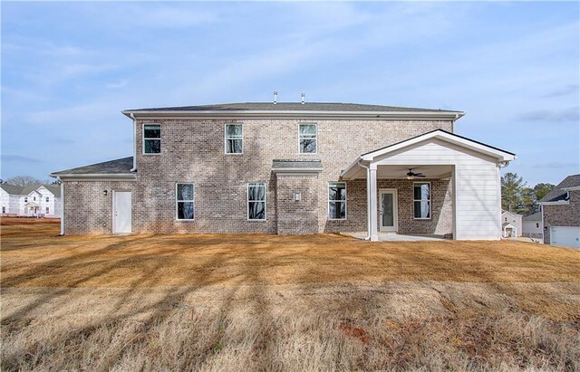
[[[341,177],[366,181],[367,236],[497,240],[507,151],[434,130],[362,154]]]

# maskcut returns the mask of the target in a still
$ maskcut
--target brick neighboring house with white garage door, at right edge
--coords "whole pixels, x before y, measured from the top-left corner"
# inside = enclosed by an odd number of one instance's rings
[[[580,175],[565,177],[539,204],[544,243],[580,248]]]

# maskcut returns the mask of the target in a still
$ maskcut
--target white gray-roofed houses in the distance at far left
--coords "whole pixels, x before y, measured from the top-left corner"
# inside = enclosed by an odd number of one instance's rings
[[[2,215],[60,217],[61,186],[0,185]]]

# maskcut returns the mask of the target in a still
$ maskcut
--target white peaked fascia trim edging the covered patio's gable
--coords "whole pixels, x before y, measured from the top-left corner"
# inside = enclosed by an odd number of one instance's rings
[[[382,149],[373,151],[369,154],[362,156],[362,159],[367,160],[367,161],[372,161],[374,159],[374,157],[380,157],[380,156],[388,154],[392,151],[396,151],[396,150],[399,150],[401,148],[407,148],[409,146],[415,145],[417,143],[420,143],[422,141],[425,141],[425,140],[431,139],[431,138],[441,139],[443,141],[457,145],[461,148],[469,148],[473,151],[486,154],[490,157],[496,157],[496,158],[498,158],[499,161],[511,161],[511,160],[514,160],[516,158],[515,155],[509,154],[505,151],[498,150],[496,148],[490,148],[486,145],[479,144],[479,143],[472,141],[472,140],[469,140],[467,138],[456,137],[452,134],[449,134],[449,133],[443,132],[443,131],[434,131],[434,132],[426,133],[426,134],[419,136],[419,137],[416,137],[416,138],[408,139],[406,141],[403,141],[401,143],[398,143],[398,144],[393,145],[393,146],[388,147],[388,148],[382,148]]]

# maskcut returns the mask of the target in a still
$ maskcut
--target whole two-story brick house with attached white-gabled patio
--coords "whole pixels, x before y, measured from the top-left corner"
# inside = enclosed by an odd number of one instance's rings
[[[134,156],[54,172],[62,234],[501,237],[500,167],[464,114],[349,103],[125,110]]]

